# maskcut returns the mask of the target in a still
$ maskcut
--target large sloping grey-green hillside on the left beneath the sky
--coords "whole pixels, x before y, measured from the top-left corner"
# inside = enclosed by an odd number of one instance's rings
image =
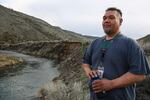
[[[0,44],[24,41],[86,41],[80,34],[0,5]]]

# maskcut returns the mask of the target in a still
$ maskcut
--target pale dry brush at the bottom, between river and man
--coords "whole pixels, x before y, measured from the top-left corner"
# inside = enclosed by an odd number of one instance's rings
[[[82,88],[81,82],[65,85],[57,81],[45,85],[39,90],[38,96],[43,100],[89,100],[89,95]]]

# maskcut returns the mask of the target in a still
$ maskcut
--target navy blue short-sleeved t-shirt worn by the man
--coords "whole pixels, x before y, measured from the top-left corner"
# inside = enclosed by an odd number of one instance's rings
[[[97,69],[102,61],[103,41],[104,37],[96,39],[85,51],[83,63],[89,64],[91,69]],[[145,53],[135,40],[118,34],[117,38],[110,42],[111,45],[106,50],[103,60],[104,78],[112,80],[127,72],[150,74]],[[135,100],[135,84],[108,91],[107,96],[92,100]]]

